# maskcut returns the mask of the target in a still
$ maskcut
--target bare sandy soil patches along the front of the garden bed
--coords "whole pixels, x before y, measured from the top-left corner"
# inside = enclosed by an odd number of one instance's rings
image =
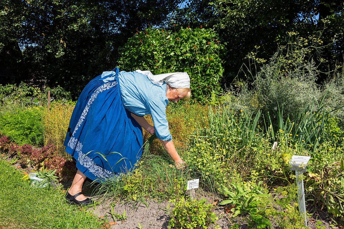
[[[10,162],[12,160],[10,155],[3,155],[2,159]],[[1,157],[0,157],[1,158]],[[23,167],[19,163],[12,164],[17,170],[23,172],[29,172],[33,168]],[[62,182],[61,184],[67,190],[72,181]],[[86,182],[85,182],[86,183]],[[92,189],[89,185],[85,184],[83,187],[83,193],[89,198],[93,198],[95,201],[100,201],[101,198],[98,196],[91,196]],[[235,218],[230,218],[226,208],[219,206],[218,203],[222,201],[221,198],[208,195],[200,194],[196,192],[195,198],[201,199],[205,198],[207,203],[214,205],[214,212],[218,216],[216,220],[216,225],[219,225],[221,229],[228,229],[234,223],[238,223],[239,229],[247,228],[247,216],[238,216]],[[113,228],[113,229],[168,229],[170,212],[172,211],[173,204],[169,201],[159,201],[158,199],[146,199],[144,201],[125,201],[121,199],[107,199],[102,200],[101,204],[89,208],[90,211],[93,211],[95,217],[106,218],[108,223],[104,224],[104,228]],[[110,204],[114,207],[114,211],[122,215],[125,211],[125,220],[118,220],[111,217],[110,214]],[[332,221],[325,211],[307,209],[308,212],[313,212],[313,214],[308,219],[308,227],[311,229],[342,229],[342,225],[338,225]],[[324,209],[326,210],[326,209]],[[141,227],[140,227],[141,225]],[[212,225],[209,228],[214,228],[215,225]],[[274,226],[274,225],[273,225]]]

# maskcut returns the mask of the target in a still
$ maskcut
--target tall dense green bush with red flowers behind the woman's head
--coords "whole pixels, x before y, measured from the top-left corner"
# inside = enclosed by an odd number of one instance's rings
[[[222,89],[223,45],[211,29],[181,29],[178,32],[147,28],[137,32],[122,47],[121,70],[150,70],[154,75],[187,72],[196,101],[214,98]]]

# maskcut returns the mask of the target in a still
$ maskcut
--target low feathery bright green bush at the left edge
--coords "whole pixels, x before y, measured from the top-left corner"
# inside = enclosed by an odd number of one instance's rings
[[[2,114],[0,116],[0,132],[19,145],[42,145],[43,125],[39,108]]]

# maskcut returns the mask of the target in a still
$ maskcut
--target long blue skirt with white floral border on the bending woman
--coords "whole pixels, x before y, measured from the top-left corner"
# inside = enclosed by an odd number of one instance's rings
[[[98,182],[130,170],[143,144],[142,128],[124,109],[118,81],[104,83],[100,78],[81,92],[64,141],[78,170]]]

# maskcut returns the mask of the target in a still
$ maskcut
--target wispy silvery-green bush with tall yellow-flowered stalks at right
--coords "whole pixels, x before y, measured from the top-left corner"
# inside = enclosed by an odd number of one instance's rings
[[[245,110],[252,113],[261,110],[266,122],[269,122],[269,112],[274,125],[277,123],[279,107],[283,106],[283,119],[289,117],[290,120],[294,120],[298,112],[304,108],[309,106],[308,111],[311,110],[312,104],[313,110],[318,109],[317,105],[321,103],[325,93],[323,109],[331,111],[343,106],[343,70],[341,73],[335,73],[328,83],[317,84],[319,66],[315,66],[312,58],[317,58],[322,63],[326,62],[320,55],[322,41],[319,37],[303,38],[295,33],[289,34],[288,45],[279,46],[269,61],[256,58],[257,52],[247,55],[252,64],[246,66],[245,72],[254,82],[236,82],[235,90],[232,87],[232,90],[222,97],[226,106],[235,111]],[[314,50],[319,51],[319,56],[309,56]],[[261,67],[258,69],[257,65]],[[340,66],[336,66],[334,70],[338,67]],[[343,119],[344,108],[336,110],[334,114],[337,118]]]

